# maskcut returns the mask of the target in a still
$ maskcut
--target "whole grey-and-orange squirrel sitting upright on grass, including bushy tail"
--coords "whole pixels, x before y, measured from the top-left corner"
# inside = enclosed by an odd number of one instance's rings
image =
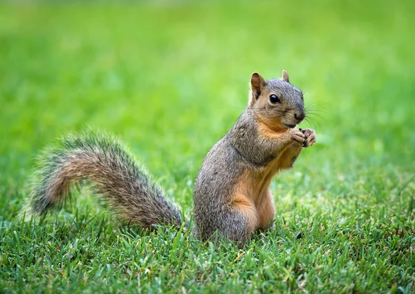
[[[295,126],[306,117],[302,91],[282,79],[250,79],[248,107],[229,132],[209,151],[194,182],[194,234],[207,240],[215,233],[239,246],[275,217],[269,186],[279,170],[291,168],[315,132]],[[181,212],[166,199],[147,171],[120,141],[109,135],[68,136],[41,157],[31,213],[59,206],[72,184],[86,180],[121,219],[151,228],[181,226]],[[186,224],[187,225],[187,224]]]

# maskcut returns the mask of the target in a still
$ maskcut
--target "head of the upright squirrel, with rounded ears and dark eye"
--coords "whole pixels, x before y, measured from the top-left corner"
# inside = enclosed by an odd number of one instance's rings
[[[306,117],[302,91],[290,84],[285,70],[282,71],[281,79],[268,81],[258,72],[254,72],[250,86],[248,108],[269,128],[294,128]]]

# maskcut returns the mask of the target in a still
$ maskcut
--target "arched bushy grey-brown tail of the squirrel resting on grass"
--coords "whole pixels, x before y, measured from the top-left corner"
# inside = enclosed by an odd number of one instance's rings
[[[127,148],[110,135],[84,133],[60,139],[45,150],[30,194],[32,213],[59,206],[73,184],[85,181],[116,215],[143,228],[152,224],[181,226],[181,213],[165,198]]]

